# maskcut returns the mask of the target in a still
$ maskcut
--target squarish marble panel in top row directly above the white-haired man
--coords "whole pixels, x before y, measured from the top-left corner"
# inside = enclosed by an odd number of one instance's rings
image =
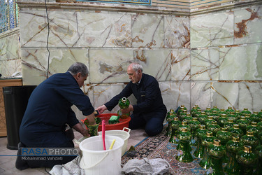
[[[132,15],[133,48],[163,48],[163,15]]]

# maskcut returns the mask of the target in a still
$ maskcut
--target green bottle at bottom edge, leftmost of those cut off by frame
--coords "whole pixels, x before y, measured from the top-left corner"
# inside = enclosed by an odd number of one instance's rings
[[[221,145],[219,139],[214,139],[213,144],[208,147],[208,154],[211,159],[212,174],[224,174],[222,162],[226,155],[226,148]]]

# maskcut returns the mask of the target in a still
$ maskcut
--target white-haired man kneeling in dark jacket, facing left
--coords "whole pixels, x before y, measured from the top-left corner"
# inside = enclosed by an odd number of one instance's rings
[[[96,110],[99,113],[103,113],[105,109],[111,111],[118,104],[119,99],[133,94],[137,99],[137,104],[130,104],[129,108],[122,109],[122,113],[133,111],[129,128],[134,130],[138,127],[145,127],[145,132],[149,136],[155,136],[163,130],[163,120],[167,112],[159,83],[153,76],[143,73],[143,67],[138,63],[130,64],[127,74],[131,81],[124,87],[124,90]]]

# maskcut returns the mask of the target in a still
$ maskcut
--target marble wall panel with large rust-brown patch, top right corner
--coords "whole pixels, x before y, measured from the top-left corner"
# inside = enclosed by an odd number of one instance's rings
[[[233,10],[235,44],[262,42],[262,6]]]

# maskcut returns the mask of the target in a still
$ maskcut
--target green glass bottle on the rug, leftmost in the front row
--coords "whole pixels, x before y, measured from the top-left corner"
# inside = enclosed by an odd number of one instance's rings
[[[191,139],[190,132],[187,131],[186,127],[182,127],[182,130],[177,134],[180,142],[180,150],[177,150],[176,160],[180,162],[192,162],[193,158],[190,153],[191,147],[189,141]]]

